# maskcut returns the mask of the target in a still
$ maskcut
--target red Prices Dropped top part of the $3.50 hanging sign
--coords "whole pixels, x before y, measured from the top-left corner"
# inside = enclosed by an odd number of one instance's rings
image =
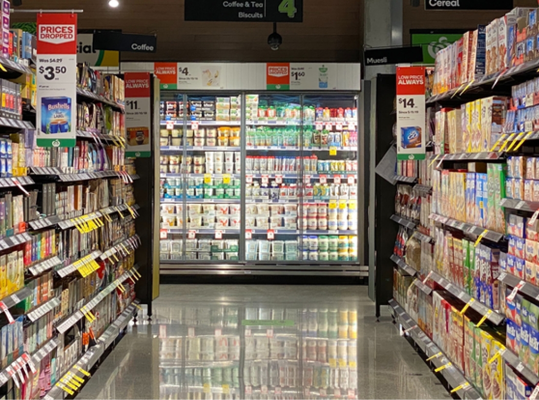
[[[77,54],[77,14],[37,15],[38,54]]]

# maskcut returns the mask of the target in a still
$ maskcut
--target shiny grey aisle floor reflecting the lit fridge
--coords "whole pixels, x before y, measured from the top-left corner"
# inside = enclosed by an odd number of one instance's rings
[[[364,286],[162,285],[78,399],[443,399]]]

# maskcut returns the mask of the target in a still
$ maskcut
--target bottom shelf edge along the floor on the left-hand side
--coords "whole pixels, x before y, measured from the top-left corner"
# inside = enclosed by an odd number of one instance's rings
[[[99,361],[99,358],[105,353],[105,350],[110,347],[110,345],[118,339],[120,332],[128,325],[129,321],[133,318],[133,315],[136,314],[138,307],[138,301],[133,301],[132,304],[126,307],[126,309],[121,313],[118,318],[101,334],[98,339],[98,344],[89,348],[86,353],[77,361],[70,369],[67,370],[66,374],[74,374],[79,378],[86,380],[85,376],[80,370],[89,371],[94,365]],[[66,375],[64,374],[64,376]],[[44,397],[45,400],[53,399],[63,399],[67,395],[58,385],[54,385],[52,389]]]

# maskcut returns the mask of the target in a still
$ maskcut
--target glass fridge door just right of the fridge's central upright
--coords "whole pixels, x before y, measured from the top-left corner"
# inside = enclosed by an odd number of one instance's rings
[[[301,96],[247,94],[245,100],[245,258],[296,261]]]

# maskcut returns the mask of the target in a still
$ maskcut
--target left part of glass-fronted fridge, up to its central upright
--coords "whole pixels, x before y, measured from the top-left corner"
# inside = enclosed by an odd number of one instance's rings
[[[169,146],[161,146],[162,259],[237,264],[241,224],[241,96],[177,95],[165,101]],[[169,121],[170,120],[170,121]],[[163,127],[162,127],[163,128]],[[172,128],[172,126],[167,126]],[[162,136],[164,135],[164,132]],[[164,144],[164,140],[163,143]],[[164,236],[164,235],[163,235]],[[163,250],[169,250],[169,255]]]

